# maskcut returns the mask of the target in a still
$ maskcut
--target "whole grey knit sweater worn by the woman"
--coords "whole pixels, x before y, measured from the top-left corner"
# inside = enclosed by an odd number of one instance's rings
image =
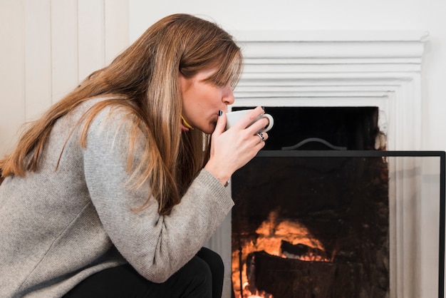
[[[6,178],[0,186],[2,298],[61,297],[85,277],[125,262],[145,278],[164,282],[234,205],[219,180],[202,170],[170,215],[158,215],[153,199],[145,210],[133,211],[150,190],[126,184],[130,123],[124,113],[100,112],[86,148],[79,129],[70,136],[91,104],[58,120],[37,173]]]

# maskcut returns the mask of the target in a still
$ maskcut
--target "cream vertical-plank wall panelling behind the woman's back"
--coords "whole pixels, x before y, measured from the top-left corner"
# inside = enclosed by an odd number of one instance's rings
[[[0,156],[17,131],[128,46],[128,0],[0,1]]]

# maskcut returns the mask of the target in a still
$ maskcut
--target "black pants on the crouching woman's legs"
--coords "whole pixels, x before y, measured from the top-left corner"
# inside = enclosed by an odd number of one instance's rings
[[[130,264],[105,269],[84,279],[65,298],[221,298],[222,258],[203,247],[166,282],[156,284],[142,277]]]

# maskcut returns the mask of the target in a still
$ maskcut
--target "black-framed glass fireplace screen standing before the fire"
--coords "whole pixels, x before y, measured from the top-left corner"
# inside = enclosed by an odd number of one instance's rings
[[[232,176],[232,296],[442,297],[444,167],[444,152],[262,150]]]

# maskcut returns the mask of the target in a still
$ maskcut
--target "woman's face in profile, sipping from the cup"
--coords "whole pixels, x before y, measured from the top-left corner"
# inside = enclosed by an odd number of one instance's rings
[[[227,112],[227,106],[234,103],[234,93],[229,83],[227,86],[216,86],[204,81],[215,71],[200,71],[192,78],[185,78],[180,72],[178,75],[182,116],[193,128],[204,133],[212,133],[217,124],[219,110]]]

